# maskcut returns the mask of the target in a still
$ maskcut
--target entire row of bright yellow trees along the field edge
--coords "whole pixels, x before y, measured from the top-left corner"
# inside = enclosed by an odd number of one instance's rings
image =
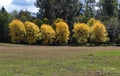
[[[109,40],[106,27],[98,20],[91,18],[87,24],[74,23],[72,37],[78,44],[84,44],[89,41],[95,43],[104,43]],[[62,19],[56,19],[53,25],[42,24],[38,27],[35,23],[20,20],[13,20],[9,24],[9,35],[13,43],[34,44],[37,41],[42,44],[67,44],[70,38],[68,24]]]

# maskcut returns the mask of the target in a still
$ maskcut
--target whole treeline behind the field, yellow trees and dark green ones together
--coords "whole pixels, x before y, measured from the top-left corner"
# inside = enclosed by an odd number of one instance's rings
[[[0,10],[0,42],[120,44],[118,0],[36,0],[39,12]]]

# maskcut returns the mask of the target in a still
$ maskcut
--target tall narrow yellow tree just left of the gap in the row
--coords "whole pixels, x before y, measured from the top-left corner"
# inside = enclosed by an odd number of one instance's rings
[[[58,22],[56,25],[56,43],[58,44],[66,44],[69,40],[69,27],[65,22]]]

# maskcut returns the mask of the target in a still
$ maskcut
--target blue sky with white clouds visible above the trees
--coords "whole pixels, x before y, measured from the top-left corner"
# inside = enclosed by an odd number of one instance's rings
[[[30,12],[37,12],[38,9],[34,6],[36,0],[0,0],[0,7],[4,6],[8,12],[13,10],[28,10]],[[81,0],[84,2],[84,0]],[[96,0],[98,2],[99,0]]]

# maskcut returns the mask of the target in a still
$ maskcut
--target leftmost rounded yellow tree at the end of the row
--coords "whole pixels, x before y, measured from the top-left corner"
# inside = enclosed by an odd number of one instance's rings
[[[13,43],[21,43],[25,34],[26,30],[23,22],[15,19],[9,23],[9,35]]]

